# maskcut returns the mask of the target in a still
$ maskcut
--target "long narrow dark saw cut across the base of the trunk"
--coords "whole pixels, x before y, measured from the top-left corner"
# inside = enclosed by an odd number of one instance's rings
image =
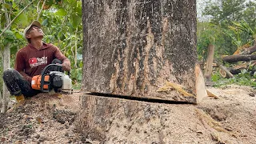
[[[98,92],[85,92],[85,94],[96,96],[96,97],[120,98],[120,99],[140,101],[140,102],[153,102],[153,103],[165,103],[165,104],[194,104],[193,102],[172,101],[172,100],[167,100],[162,98],[134,97],[134,96],[120,95],[120,94],[106,94],[106,93],[98,93]]]

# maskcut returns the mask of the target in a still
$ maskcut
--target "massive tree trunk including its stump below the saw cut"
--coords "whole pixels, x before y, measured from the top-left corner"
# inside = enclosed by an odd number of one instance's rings
[[[195,6],[195,0],[82,1],[82,89],[196,103],[206,95],[206,90],[197,65]],[[173,85],[176,87],[169,87]],[[128,134],[129,127],[140,126],[138,122],[142,122],[142,129],[151,133],[146,128],[150,126],[147,120],[157,117],[158,121],[161,117],[150,114],[151,110],[158,113],[159,104],[86,95],[81,100],[77,129],[99,141],[135,142],[125,135],[114,138],[108,132],[119,132],[121,129],[114,126],[128,122],[127,131],[122,133]],[[162,127],[151,124],[156,130]],[[136,134],[134,138],[139,143],[153,142],[155,136],[140,138]],[[110,140],[111,137],[114,139]]]

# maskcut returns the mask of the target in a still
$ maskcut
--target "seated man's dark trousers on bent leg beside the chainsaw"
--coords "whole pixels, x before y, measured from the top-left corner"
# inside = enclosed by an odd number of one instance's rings
[[[52,63],[60,63],[62,61],[54,59]],[[51,70],[52,71],[52,70]],[[3,72],[3,81],[6,84],[7,89],[11,95],[19,96],[23,94],[25,97],[32,97],[39,94],[41,90],[34,90],[31,87],[31,83],[26,81],[22,74],[19,74],[17,70],[7,69]]]

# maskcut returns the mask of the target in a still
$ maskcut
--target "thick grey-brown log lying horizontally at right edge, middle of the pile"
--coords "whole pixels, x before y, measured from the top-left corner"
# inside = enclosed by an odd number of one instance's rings
[[[256,60],[255,54],[238,54],[238,55],[229,55],[222,58],[224,62],[239,62],[246,61],[249,62],[251,60]]]

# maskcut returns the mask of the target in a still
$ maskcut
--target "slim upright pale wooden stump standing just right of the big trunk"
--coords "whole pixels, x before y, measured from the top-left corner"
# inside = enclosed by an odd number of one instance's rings
[[[211,81],[211,74],[213,71],[213,62],[214,62],[214,45],[210,44],[208,46],[208,56],[206,60],[206,69],[204,73],[206,81]]]

